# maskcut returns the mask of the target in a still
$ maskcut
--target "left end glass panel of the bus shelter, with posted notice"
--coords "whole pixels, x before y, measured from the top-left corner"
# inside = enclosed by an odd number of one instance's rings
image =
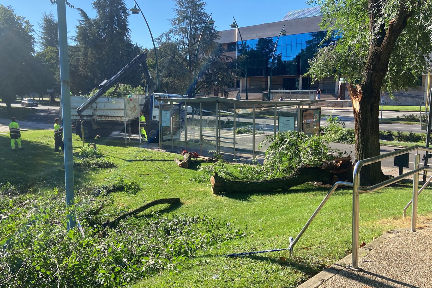
[[[179,150],[184,147],[184,141],[181,141],[184,119],[180,104],[161,103],[159,111],[159,147],[169,151]]]

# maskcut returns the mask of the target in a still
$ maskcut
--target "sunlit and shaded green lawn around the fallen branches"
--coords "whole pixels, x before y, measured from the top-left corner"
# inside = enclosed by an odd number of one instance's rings
[[[162,215],[209,215],[232,221],[238,228],[247,226],[246,237],[197,253],[180,271],[162,271],[137,282],[135,288],[297,287],[350,253],[352,192],[349,189],[334,193],[295,246],[292,259],[286,251],[226,258],[224,255],[228,253],[288,247],[288,238],[299,233],[330,188],[304,184],[287,191],[254,193],[253,187],[245,187],[244,193],[215,196],[210,192],[210,183],[190,180],[203,174],[197,167],[183,169],[175,165],[173,159],[178,154],[153,151],[139,147],[138,143],[124,144],[110,138],[92,142],[117,168],[75,169],[76,190],[88,184],[107,184],[120,176],[141,187],[136,195],[114,194],[114,203],[124,210],[154,199],[180,197],[181,206],[174,209],[168,209],[167,205],[155,206],[145,214],[159,211]],[[61,190],[64,187],[64,158],[54,152],[52,131],[23,131],[22,144],[25,150],[11,152],[9,135],[0,135],[3,147],[0,179],[32,185],[39,193],[54,187]],[[79,137],[74,135],[74,151],[80,150],[80,144]],[[410,186],[362,194],[360,243],[370,242],[391,228],[409,227],[410,220],[403,221],[401,217],[411,195]],[[419,196],[420,218],[426,221],[427,216],[432,216],[430,212],[432,191],[425,190]]]

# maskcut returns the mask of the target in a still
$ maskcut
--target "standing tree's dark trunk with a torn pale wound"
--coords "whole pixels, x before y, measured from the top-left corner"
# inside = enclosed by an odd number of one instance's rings
[[[369,31],[374,37],[369,46],[364,81],[357,86],[348,85],[356,130],[356,160],[380,155],[379,99],[381,87],[397,38],[407,26],[407,20],[412,15],[407,5],[400,4],[397,16],[389,22],[388,28],[382,24],[378,31],[374,32],[375,22],[381,9],[380,0],[368,1]],[[381,162],[363,167],[360,179],[361,185],[375,184],[386,179],[381,171]]]

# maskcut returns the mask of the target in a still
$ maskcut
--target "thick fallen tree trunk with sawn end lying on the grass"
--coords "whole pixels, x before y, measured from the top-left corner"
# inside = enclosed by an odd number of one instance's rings
[[[289,176],[267,180],[229,180],[220,177],[217,173],[210,178],[213,194],[242,193],[252,191],[270,192],[274,190],[287,190],[306,182],[320,182],[334,184],[337,181],[350,180],[353,177],[353,163],[351,157],[339,158],[332,163],[320,167],[301,167]]]

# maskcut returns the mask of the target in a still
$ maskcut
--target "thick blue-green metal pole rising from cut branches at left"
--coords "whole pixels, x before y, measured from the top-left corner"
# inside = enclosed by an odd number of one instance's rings
[[[73,205],[73,158],[72,158],[72,123],[70,117],[70,78],[69,56],[67,52],[66,1],[57,0],[58,46],[60,57],[61,109],[64,135],[64,180],[66,187],[66,206]],[[81,124],[83,125],[83,124]],[[67,230],[75,227],[75,212],[67,215]]]

